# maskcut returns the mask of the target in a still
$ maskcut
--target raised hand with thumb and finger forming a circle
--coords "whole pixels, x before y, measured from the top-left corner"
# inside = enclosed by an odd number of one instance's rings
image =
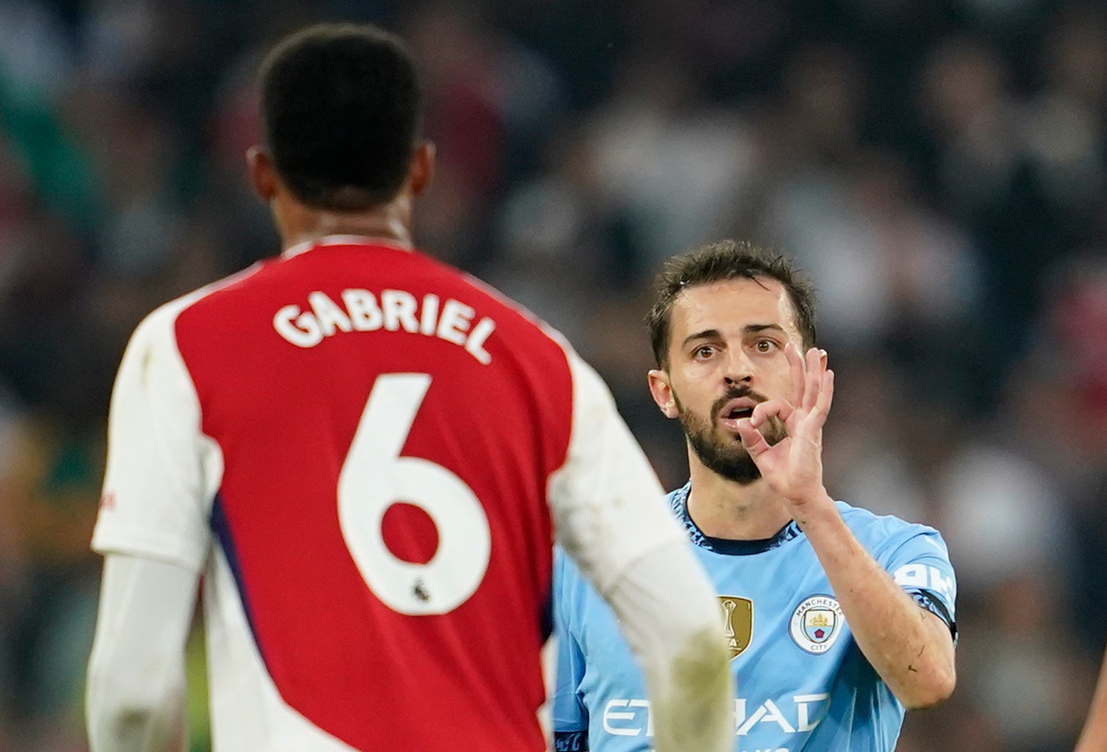
[[[823,425],[834,397],[834,372],[827,369],[823,351],[811,347],[801,356],[789,343],[784,353],[793,384],[800,385],[798,406],[786,399],[761,403],[749,418],[738,422],[738,435],[762,478],[787,500],[793,512],[799,512],[808,502],[829,499],[823,485]],[[758,428],[773,417],[784,424],[787,436],[769,446]]]

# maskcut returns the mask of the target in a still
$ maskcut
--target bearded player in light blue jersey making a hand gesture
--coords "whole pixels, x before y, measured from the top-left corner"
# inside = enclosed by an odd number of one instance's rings
[[[906,709],[953,691],[955,581],[938,531],[827,493],[834,373],[814,347],[813,297],[787,259],[747,243],[666,265],[649,384],[691,470],[669,502],[718,594],[735,751],[891,752]],[[619,624],[566,556],[554,612],[555,749],[652,749]]]

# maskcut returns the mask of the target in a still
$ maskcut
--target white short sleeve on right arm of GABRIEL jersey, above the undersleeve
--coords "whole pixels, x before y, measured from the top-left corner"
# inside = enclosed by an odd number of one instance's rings
[[[576,353],[568,357],[572,432],[548,498],[558,542],[607,595],[634,561],[684,534],[607,385]]]

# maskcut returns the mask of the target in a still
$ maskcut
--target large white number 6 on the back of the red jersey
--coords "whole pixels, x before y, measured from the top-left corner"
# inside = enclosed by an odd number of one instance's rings
[[[476,494],[453,472],[420,457],[401,457],[431,387],[427,374],[377,377],[339,474],[339,526],[373,594],[401,614],[447,614],[476,592],[488,568],[492,534]],[[418,506],[438,530],[426,564],[397,558],[382,534],[392,504]]]

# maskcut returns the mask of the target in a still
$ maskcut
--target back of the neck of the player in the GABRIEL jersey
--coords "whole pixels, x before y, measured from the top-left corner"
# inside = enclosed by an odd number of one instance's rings
[[[334,234],[379,238],[412,248],[411,200],[404,195],[365,211],[330,211],[279,200],[273,201],[272,211],[286,249]]]

